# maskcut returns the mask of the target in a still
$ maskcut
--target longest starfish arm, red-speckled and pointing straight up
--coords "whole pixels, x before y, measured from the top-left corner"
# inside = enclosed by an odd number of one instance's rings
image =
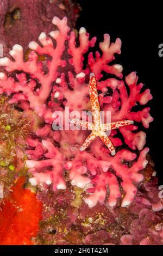
[[[99,108],[98,93],[97,93],[97,87],[96,87],[96,77],[94,73],[90,74],[89,88],[90,88],[90,100],[91,100],[91,107],[92,107],[93,123],[96,127],[98,127],[100,124],[101,117],[100,117],[100,108]]]

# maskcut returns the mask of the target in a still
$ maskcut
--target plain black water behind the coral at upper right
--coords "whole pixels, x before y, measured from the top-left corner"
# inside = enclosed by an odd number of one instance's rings
[[[151,89],[153,100],[148,103],[154,121],[145,129],[147,147],[163,184],[163,57],[159,57],[159,44],[163,44],[163,9],[159,2],[92,1],[78,0],[82,11],[77,29],[85,27],[91,36],[103,40],[108,33],[111,42],[122,40],[122,53],[116,63],[123,66],[123,77],[136,71],[139,82]]]

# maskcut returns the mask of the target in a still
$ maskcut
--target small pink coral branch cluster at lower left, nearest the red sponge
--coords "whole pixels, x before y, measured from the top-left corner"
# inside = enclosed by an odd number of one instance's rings
[[[58,149],[54,147],[53,143],[50,141],[42,140],[42,143],[38,141],[33,143],[32,140],[28,140],[29,145],[35,147],[35,150],[27,150],[29,155],[32,157],[40,157],[41,154],[38,154],[38,145],[41,148],[42,156],[44,155],[47,159],[34,161],[27,160],[26,164],[29,168],[29,172],[32,172],[33,178],[30,178],[29,181],[32,185],[36,186],[39,183],[46,183],[51,185],[53,183],[53,190],[66,188],[64,179],[62,178],[62,155],[59,153]],[[45,153],[46,149],[46,153]],[[52,170],[48,168],[52,167]],[[45,168],[47,168],[45,170]],[[40,172],[40,170],[42,170]]]

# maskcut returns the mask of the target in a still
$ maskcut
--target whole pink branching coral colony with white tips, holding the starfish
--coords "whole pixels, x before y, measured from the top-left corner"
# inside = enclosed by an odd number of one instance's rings
[[[42,32],[39,42],[29,42],[32,51],[28,60],[24,61],[23,48],[17,44],[10,51],[11,58],[0,59],[5,70],[0,73],[1,94],[10,95],[9,103],[16,104],[25,115],[30,109],[42,124],[45,122],[36,129],[35,136],[27,139],[30,184],[41,184],[43,190],[51,184],[54,191],[65,190],[67,172],[72,186],[86,191],[84,201],[90,208],[98,202],[110,207],[117,202],[127,206],[134,200],[137,184],[143,180],[141,170],[148,163],[146,133],[138,131],[136,124],[148,128],[153,121],[149,107],[139,111],[134,107],[152,99],[150,90],[142,92],[143,84],[137,84],[135,72],[123,81],[122,66],[111,64],[114,55],[121,53],[120,39],[110,44],[110,36],[104,34],[99,43],[101,53],[96,51],[94,56],[90,52],[86,57],[96,38],[90,39],[82,27],[77,42],[66,17],[54,17],[52,22],[57,26],[55,31],[49,36]],[[40,60],[42,55],[45,60]],[[84,110],[92,111],[93,123],[86,111],[85,121],[70,118],[67,107],[81,115]],[[100,109],[110,111],[111,123],[102,124]],[[77,124],[86,129],[64,126],[63,130],[53,130],[52,123],[59,123],[57,111],[64,120],[70,119],[70,126]],[[109,136],[106,130],[110,130]],[[147,199],[139,199],[147,204]],[[153,204],[153,209],[161,210],[162,204]],[[122,243],[130,244],[131,240],[131,235],[121,237]]]

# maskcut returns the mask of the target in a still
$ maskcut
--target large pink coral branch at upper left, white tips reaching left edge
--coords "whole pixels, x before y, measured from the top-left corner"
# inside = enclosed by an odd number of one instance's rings
[[[67,33],[70,28],[67,26],[67,19],[59,20],[57,17],[53,18],[53,24],[58,26],[58,31],[50,33],[51,37],[56,41],[56,47],[53,46],[51,38],[47,38],[45,33],[41,33],[39,41],[42,44],[40,46],[35,41],[29,43],[29,48],[33,51],[29,54],[29,60],[24,62],[23,60],[23,48],[20,45],[14,45],[10,51],[10,55],[14,58],[14,61],[9,58],[1,58],[0,65],[4,66],[5,70],[12,72],[14,70],[23,70],[30,74],[29,82],[26,80],[26,75],[23,73],[17,75],[18,82],[15,82],[13,78],[8,78],[1,72],[0,74],[0,87],[2,92],[18,93],[22,92],[23,99],[28,100],[30,107],[41,107],[47,100],[49,93],[51,92],[52,82],[56,80],[58,76],[59,66],[65,66],[65,60],[61,59],[62,53],[65,50],[65,40],[68,38]],[[38,56],[35,51],[41,55],[47,54],[52,57],[52,60],[47,60],[48,73],[43,70],[41,62],[38,62]],[[36,88],[36,82],[33,80],[36,78],[41,83],[41,88]],[[14,102],[20,101],[20,94],[14,96]]]

